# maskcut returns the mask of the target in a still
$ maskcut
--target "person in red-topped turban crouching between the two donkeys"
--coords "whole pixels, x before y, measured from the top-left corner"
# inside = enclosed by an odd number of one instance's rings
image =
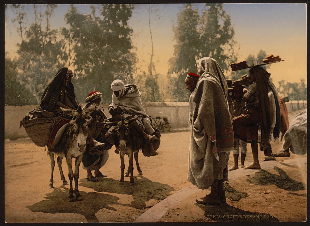
[[[103,120],[107,119],[107,116],[104,114],[103,108],[100,106],[101,99],[102,93],[98,91],[91,92],[86,97],[87,103],[83,106],[83,109],[92,109],[91,117],[93,120],[90,125],[90,129],[93,133],[95,133],[95,131],[93,130],[95,130],[96,128],[95,121],[102,122]],[[100,136],[100,134],[98,134],[98,136]],[[104,136],[100,137],[102,138]],[[97,137],[95,138],[98,139]],[[100,141],[102,142],[102,139],[100,139]],[[98,181],[97,177],[107,177],[107,175],[102,174],[99,169],[103,167],[104,164],[107,162],[109,158],[108,150],[112,147],[112,145],[105,140],[104,144],[104,146],[99,148],[99,150],[102,151],[102,154],[89,154],[86,151],[83,155],[82,167],[87,171],[86,179],[88,181]],[[91,171],[95,171],[95,176],[92,175]]]

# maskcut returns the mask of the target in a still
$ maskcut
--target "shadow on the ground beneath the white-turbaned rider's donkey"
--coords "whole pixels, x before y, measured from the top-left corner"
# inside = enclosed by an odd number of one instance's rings
[[[154,182],[148,178],[140,175],[141,179],[135,178],[135,186],[129,186],[129,177],[125,177],[127,181],[124,185],[119,185],[118,180],[112,178],[100,178],[99,182],[90,182],[86,179],[80,180],[79,186],[94,189],[98,192],[108,192],[117,194],[128,194],[132,195],[133,201],[131,204],[118,204],[122,206],[131,206],[136,209],[145,209],[147,207],[145,202],[150,199],[163,200],[170,195],[171,191],[175,189],[166,184]]]

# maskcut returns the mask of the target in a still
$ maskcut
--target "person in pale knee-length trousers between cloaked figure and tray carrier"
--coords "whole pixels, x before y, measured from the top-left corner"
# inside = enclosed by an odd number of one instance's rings
[[[243,88],[241,85],[234,86],[232,89],[232,97],[228,102],[229,111],[232,118],[242,115],[244,112],[245,103],[242,101],[242,94],[246,93],[247,89]],[[233,160],[234,164],[228,170],[238,169],[238,158],[239,158],[239,147],[241,149],[241,165],[244,167],[244,160],[246,159],[246,141],[235,138],[234,140],[234,151]]]

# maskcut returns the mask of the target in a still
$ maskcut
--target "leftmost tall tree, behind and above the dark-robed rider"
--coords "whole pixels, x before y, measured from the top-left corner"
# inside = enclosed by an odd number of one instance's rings
[[[61,42],[57,40],[58,31],[50,28],[49,20],[54,13],[56,5],[47,5],[40,19],[35,20],[25,32],[23,41],[18,44],[19,54],[17,79],[40,102],[40,97],[48,80],[62,65]],[[47,26],[41,28],[41,20],[46,20]]]

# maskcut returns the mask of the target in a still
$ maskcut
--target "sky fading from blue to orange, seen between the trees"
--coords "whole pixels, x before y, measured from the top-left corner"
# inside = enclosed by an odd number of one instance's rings
[[[261,4],[223,4],[224,10],[231,17],[235,29],[235,41],[240,49],[238,61],[245,60],[249,54],[257,55],[260,49],[267,54],[280,55],[285,61],[271,64],[268,72],[271,73],[274,84],[277,81],[287,80],[299,82],[306,80],[307,60],[307,27],[306,4],[304,3],[261,3]],[[76,5],[78,11],[90,13],[90,5]],[[33,21],[32,6],[29,5],[28,23]],[[193,4],[199,12],[204,4]],[[51,19],[52,28],[66,26],[64,14],[69,5],[56,8]],[[183,9],[183,4],[152,4],[151,29],[154,45],[154,59],[159,60],[156,71],[165,74],[168,71],[168,60],[173,56],[172,26],[176,25],[177,13]],[[156,11],[157,10],[157,14]],[[10,7],[5,12],[5,51],[11,57],[17,56],[16,43],[20,38],[11,22]],[[132,42],[137,47],[138,66],[147,70],[150,60],[151,39],[148,28],[148,4],[140,4],[133,10],[129,25],[134,31]],[[232,62],[233,63],[233,62]]]

